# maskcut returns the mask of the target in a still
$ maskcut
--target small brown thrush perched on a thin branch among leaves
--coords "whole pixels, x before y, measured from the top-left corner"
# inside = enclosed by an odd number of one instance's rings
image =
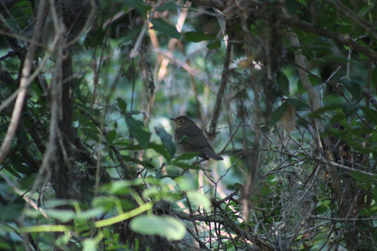
[[[198,156],[204,160],[209,160],[209,158],[223,160],[221,156],[213,151],[202,130],[195,125],[192,119],[187,116],[178,116],[175,119],[170,119],[175,122],[174,140],[180,152],[200,152]]]

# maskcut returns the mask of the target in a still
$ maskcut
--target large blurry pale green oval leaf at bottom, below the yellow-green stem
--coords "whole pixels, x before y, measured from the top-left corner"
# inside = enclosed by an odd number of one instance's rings
[[[169,240],[181,240],[186,234],[186,227],[171,216],[136,216],[130,222],[132,231],[140,234],[159,235]]]

